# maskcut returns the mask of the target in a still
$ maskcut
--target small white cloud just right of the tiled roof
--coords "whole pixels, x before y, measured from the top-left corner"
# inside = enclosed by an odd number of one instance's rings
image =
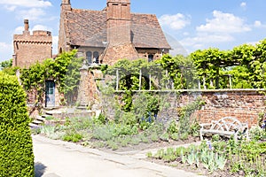
[[[175,30],[182,29],[191,24],[191,18],[181,13],[177,13],[176,15],[162,15],[159,21],[161,26],[167,26]]]

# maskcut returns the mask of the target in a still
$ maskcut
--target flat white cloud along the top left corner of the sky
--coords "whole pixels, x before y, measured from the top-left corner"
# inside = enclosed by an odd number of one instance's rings
[[[43,0],[0,0],[0,4],[7,6],[20,6],[20,7],[49,7],[50,1]]]

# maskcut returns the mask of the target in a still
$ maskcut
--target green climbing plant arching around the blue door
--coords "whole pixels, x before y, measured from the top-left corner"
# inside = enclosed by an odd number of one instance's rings
[[[47,80],[55,81],[66,101],[71,101],[71,96],[78,87],[79,68],[82,66],[82,58],[75,58],[76,52],[77,50],[63,52],[55,59],[48,58],[43,63],[37,62],[21,70],[22,85],[27,91],[36,91],[36,103],[43,103]]]

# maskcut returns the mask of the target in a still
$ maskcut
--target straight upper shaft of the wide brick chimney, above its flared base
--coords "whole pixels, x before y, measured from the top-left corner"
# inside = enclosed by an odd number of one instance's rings
[[[131,42],[130,0],[107,0],[107,42],[113,45]]]

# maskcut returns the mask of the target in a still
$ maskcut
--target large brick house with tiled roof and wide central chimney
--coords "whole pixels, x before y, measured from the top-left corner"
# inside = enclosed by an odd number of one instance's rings
[[[170,46],[153,14],[130,12],[130,0],[107,0],[102,11],[73,9],[62,0],[59,53],[78,49],[89,64],[113,65],[118,59],[153,60]]]

